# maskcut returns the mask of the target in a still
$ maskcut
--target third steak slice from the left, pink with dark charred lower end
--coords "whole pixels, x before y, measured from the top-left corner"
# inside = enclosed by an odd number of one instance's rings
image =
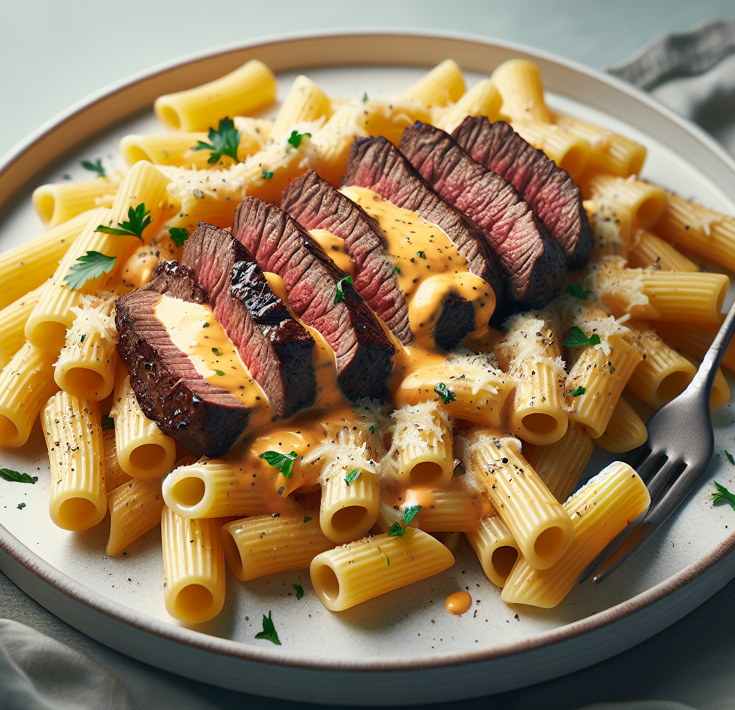
[[[276,205],[247,197],[237,206],[232,234],[262,270],[281,276],[298,317],[329,343],[345,397],[385,397],[395,348],[365,301],[344,280],[347,274],[309,232]]]

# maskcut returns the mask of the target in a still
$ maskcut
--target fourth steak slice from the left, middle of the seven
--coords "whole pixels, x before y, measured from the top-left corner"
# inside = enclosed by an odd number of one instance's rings
[[[326,229],[345,240],[355,263],[356,292],[400,343],[410,345],[414,334],[409,326],[409,309],[375,220],[313,170],[283,191],[281,209],[306,229]]]

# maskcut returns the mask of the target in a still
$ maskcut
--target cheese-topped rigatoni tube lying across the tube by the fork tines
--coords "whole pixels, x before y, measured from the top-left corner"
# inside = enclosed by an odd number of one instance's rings
[[[476,431],[467,437],[465,468],[483,481],[492,507],[524,556],[539,570],[569,546],[572,521],[520,455],[520,442]]]

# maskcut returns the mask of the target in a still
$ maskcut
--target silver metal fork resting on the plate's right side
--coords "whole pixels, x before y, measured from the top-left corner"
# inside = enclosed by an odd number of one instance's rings
[[[689,387],[650,417],[648,440],[625,457],[648,486],[648,514],[640,522],[634,521],[610,542],[581,574],[580,583],[595,573],[600,565],[595,583],[617,570],[681,505],[709,465],[714,451],[710,392],[734,330],[735,304],[731,306]]]

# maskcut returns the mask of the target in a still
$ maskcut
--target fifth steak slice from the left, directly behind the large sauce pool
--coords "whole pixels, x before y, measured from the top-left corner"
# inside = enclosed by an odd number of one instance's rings
[[[356,138],[340,187],[348,185],[368,187],[396,207],[410,209],[440,227],[467,259],[467,270],[490,284],[496,308],[501,305],[505,276],[481,229],[437,195],[392,143],[382,136]]]

